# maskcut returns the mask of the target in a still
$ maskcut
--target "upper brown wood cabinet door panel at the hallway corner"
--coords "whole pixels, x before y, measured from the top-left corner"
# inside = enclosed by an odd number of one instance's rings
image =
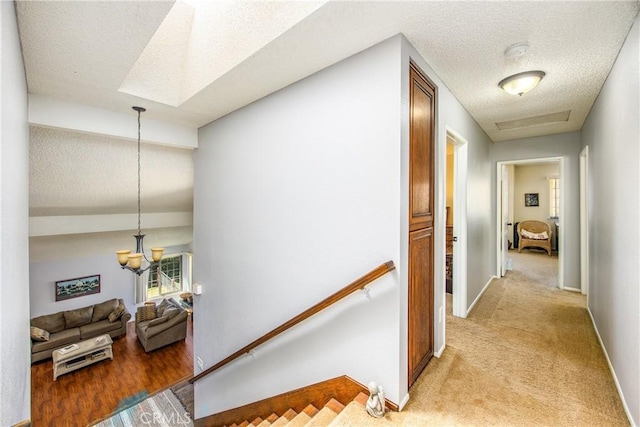
[[[409,231],[433,227],[435,88],[411,66]]]

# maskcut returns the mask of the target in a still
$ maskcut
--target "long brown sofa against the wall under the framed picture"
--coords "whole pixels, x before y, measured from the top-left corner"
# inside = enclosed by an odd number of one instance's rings
[[[31,319],[31,363],[51,357],[53,350],[78,341],[109,334],[127,334],[131,313],[122,299],[60,311]]]

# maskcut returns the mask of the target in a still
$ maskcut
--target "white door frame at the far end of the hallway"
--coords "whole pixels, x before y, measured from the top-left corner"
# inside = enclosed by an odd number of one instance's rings
[[[502,166],[506,165],[526,165],[526,164],[535,164],[535,163],[549,163],[557,161],[560,169],[560,217],[559,217],[559,231],[558,236],[556,237],[558,240],[558,288],[564,289],[564,231],[565,227],[562,226],[563,222],[563,213],[566,212],[566,201],[567,201],[567,180],[565,177],[565,160],[562,156],[554,156],[554,157],[538,157],[532,159],[521,159],[521,160],[504,160],[496,163],[496,269],[495,274],[497,277],[500,277],[500,272],[502,271],[502,260],[500,257],[500,245],[502,244],[502,224],[501,224],[501,215],[498,214],[502,209],[502,197],[497,197],[502,191]]]

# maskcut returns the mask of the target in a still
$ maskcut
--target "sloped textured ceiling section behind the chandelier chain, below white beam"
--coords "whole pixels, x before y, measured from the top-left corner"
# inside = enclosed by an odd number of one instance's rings
[[[140,157],[142,213],[192,211],[193,151],[142,144]],[[130,141],[31,127],[29,215],[137,213],[137,167]]]

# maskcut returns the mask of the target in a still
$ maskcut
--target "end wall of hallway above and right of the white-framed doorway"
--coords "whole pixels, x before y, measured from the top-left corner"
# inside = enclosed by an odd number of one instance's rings
[[[580,132],[496,142],[492,147],[494,162],[562,157],[564,160],[565,212],[560,213],[564,229],[562,268],[564,287],[580,289]],[[495,167],[491,174],[495,179]],[[495,201],[495,199],[494,199]],[[516,203],[519,203],[516,199]],[[495,203],[495,202],[494,202]]]

